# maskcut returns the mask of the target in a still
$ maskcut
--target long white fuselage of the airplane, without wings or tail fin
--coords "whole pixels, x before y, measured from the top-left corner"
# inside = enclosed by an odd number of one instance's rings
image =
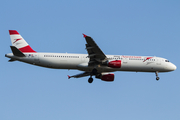
[[[88,54],[67,54],[67,53],[24,53],[25,57],[14,56],[13,53],[6,54],[6,57],[26,62],[29,64],[54,68],[54,69],[78,69],[91,72],[93,67],[88,66]],[[123,56],[107,55],[109,61],[121,60],[120,68],[111,68],[105,65],[96,66],[98,72],[113,71],[136,71],[136,72],[169,72],[176,69],[176,66],[168,60],[160,57],[147,56]],[[150,58],[150,59],[147,59]]]

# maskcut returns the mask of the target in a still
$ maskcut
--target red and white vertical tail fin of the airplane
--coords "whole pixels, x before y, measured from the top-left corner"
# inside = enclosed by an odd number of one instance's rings
[[[23,39],[23,37],[16,30],[9,30],[12,46],[15,46],[23,53],[31,53],[34,51],[29,44]]]

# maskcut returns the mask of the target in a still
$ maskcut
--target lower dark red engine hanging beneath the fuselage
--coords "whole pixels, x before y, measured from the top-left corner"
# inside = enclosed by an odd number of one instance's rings
[[[100,75],[96,75],[96,78],[99,78],[102,81],[112,82],[112,81],[114,81],[114,74],[113,73],[102,73]]]

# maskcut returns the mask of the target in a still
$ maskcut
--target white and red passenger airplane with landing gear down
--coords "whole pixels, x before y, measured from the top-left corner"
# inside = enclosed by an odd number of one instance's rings
[[[176,70],[176,66],[165,58],[156,56],[131,56],[131,55],[105,55],[95,41],[83,34],[87,44],[88,54],[69,53],[43,53],[34,51],[25,39],[16,31],[9,30],[12,53],[5,54],[9,62],[20,61],[36,66],[53,69],[74,69],[83,73],[69,76],[80,78],[90,76],[89,83],[93,82],[92,76],[102,81],[114,81],[115,71],[153,72],[159,80],[159,72]]]

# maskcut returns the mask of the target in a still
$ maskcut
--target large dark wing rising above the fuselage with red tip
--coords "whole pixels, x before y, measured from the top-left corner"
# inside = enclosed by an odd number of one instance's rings
[[[99,46],[95,43],[95,41],[91,37],[85,34],[83,35],[87,42],[86,50],[89,55],[88,57],[90,58],[89,65],[99,64],[102,63],[102,61],[105,61],[107,57],[99,48]]]

